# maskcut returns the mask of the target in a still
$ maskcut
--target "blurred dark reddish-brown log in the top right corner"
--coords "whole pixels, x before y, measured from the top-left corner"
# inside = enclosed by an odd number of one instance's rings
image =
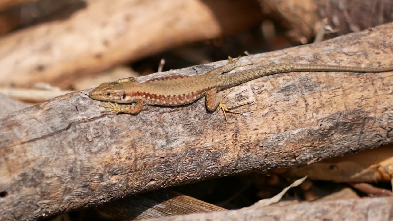
[[[334,36],[360,31],[393,21],[391,0],[259,0],[265,13],[288,28],[297,43],[312,42],[323,26]],[[330,33],[329,30],[322,29]]]

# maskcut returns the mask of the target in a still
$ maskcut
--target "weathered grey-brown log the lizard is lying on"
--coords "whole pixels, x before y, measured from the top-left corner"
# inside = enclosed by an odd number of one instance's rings
[[[255,66],[314,63],[391,66],[393,24],[243,57]],[[203,74],[226,61],[140,77]],[[246,66],[236,71],[252,68]],[[0,214],[31,220],[125,195],[226,176],[289,168],[393,142],[393,73],[301,72],[233,88],[243,115],[145,106],[102,114],[89,90],[0,118]],[[226,93],[226,92],[223,92]],[[1,197],[3,196],[3,197]]]

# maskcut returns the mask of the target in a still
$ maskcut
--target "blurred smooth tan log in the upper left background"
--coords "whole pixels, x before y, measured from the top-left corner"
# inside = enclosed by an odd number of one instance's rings
[[[253,1],[88,0],[68,19],[0,38],[0,82],[66,88],[76,76],[242,31],[261,17]]]

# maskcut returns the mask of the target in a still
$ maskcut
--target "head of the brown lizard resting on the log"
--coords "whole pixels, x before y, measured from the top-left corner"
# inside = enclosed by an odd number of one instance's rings
[[[112,101],[116,103],[126,103],[126,93],[123,85],[118,82],[102,83],[94,90],[90,91],[89,97],[100,101]]]

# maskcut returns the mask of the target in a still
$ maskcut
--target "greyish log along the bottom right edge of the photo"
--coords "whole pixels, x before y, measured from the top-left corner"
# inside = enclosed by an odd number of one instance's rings
[[[244,208],[226,212],[191,214],[184,216],[149,219],[149,221],[187,221],[187,220],[392,220],[393,197],[350,199],[300,203],[271,208]]]

